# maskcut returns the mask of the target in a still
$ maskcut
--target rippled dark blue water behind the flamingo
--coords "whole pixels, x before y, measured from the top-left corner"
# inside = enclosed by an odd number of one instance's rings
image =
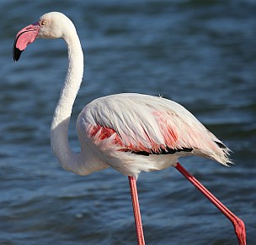
[[[61,169],[49,128],[67,68],[62,40],[37,40],[17,64],[15,34],[43,13],[66,13],[86,70],[75,121],[93,98],[120,92],[183,104],[233,151],[236,165],[181,159],[256,241],[256,70],[253,1],[2,1],[0,243],[136,244],[127,178]],[[232,225],[175,169],[138,180],[147,244],[237,244]]]

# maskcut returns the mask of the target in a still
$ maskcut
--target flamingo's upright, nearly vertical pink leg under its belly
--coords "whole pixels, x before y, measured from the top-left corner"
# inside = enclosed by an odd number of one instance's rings
[[[129,179],[130,190],[131,190],[131,201],[133,206],[138,245],[145,245],[142,222],[141,222],[141,211],[140,211],[139,198],[138,198],[138,192],[137,192],[137,186],[136,186],[136,178],[134,178],[133,176],[128,176],[128,179]]]

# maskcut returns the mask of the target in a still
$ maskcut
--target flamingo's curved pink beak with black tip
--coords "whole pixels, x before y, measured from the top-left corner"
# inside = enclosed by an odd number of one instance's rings
[[[33,43],[39,34],[40,24],[38,22],[29,24],[24,29],[21,29],[16,35],[13,44],[13,60],[16,62],[22,51],[31,43]]]

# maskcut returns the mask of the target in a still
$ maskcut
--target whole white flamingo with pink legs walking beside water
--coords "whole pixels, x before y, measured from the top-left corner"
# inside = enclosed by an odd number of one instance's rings
[[[246,244],[245,226],[179,164],[179,157],[199,155],[228,165],[229,149],[189,111],[163,97],[123,93],[90,102],[77,117],[81,152],[68,143],[72,106],[83,78],[83,50],[72,21],[63,13],[51,12],[21,29],[13,44],[13,60],[35,39],[64,39],[68,69],[51,122],[51,149],[64,169],[89,175],[109,166],[127,175],[131,189],[136,236],[145,244],[136,180],[141,171],[178,169],[232,222],[240,245]]]

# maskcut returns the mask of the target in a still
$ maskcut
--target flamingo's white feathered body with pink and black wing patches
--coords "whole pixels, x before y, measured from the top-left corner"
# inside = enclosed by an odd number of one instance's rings
[[[78,116],[77,134],[82,152],[95,156],[96,162],[87,163],[90,169],[100,162],[103,169],[111,166],[137,177],[141,171],[176,166],[186,155],[231,162],[227,147],[189,111],[157,96],[126,93],[96,99]]]

